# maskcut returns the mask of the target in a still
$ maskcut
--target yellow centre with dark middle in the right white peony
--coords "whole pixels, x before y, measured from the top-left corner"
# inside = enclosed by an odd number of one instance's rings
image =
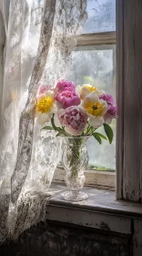
[[[85,109],[88,113],[94,115],[94,116],[101,116],[104,111],[103,104],[99,101],[93,103],[93,102],[87,102],[85,104]]]

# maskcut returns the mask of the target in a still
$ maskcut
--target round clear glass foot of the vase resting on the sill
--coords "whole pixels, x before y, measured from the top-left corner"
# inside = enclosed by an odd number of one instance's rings
[[[64,197],[67,201],[83,201],[88,198],[88,195],[83,192],[78,191],[66,191],[62,194],[62,197]]]

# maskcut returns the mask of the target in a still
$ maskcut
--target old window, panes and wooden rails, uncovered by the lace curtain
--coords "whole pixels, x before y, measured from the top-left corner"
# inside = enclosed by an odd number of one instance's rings
[[[67,80],[76,84],[90,83],[112,94],[116,99],[116,1],[87,0],[87,20],[83,33],[76,38],[72,66]],[[113,144],[94,138],[87,141],[89,164],[86,184],[115,187],[116,170],[116,121]],[[103,128],[98,129],[103,133]],[[102,130],[102,131],[101,131]],[[64,180],[64,170],[57,169],[55,180]]]

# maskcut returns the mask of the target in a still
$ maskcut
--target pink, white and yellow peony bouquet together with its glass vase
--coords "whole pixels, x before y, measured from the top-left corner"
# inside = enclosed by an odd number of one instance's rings
[[[80,192],[86,181],[86,140],[93,136],[99,144],[102,139],[112,143],[113,131],[109,124],[117,117],[113,97],[90,84],[76,87],[72,81],[61,80],[54,90],[41,85],[37,93],[36,117],[42,129],[54,130],[56,136],[64,138],[62,164],[66,170],[66,186],[71,190],[65,192],[64,198],[86,199],[86,193]],[[106,136],[96,131],[102,125]]]

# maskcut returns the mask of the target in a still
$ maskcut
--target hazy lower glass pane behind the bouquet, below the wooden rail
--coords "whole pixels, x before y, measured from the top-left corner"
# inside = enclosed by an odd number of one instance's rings
[[[77,85],[90,83],[116,98],[116,46],[77,47],[67,79]],[[111,145],[105,140],[101,145],[94,138],[88,140],[89,167],[116,169],[116,121],[112,123],[112,128],[115,137]],[[99,128],[97,131],[104,133],[103,130]]]

